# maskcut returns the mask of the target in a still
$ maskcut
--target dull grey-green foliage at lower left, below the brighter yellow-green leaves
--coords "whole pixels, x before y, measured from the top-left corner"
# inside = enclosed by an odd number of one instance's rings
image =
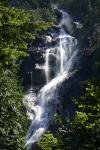
[[[24,150],[27,120],[15,71],[0,71],[0,149]]]

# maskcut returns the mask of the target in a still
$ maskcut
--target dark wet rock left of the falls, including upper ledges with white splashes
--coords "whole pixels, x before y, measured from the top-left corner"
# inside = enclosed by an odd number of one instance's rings
[[[56,33],[56,34],[55,34]],[[21,78],[25,89],[29,85],[44,85],[46,77],[44,72],[44,54],[46,49],[55,47],[58,42],[56,36],[59,34],[55,27],[45,33],[39,33],[41,38],[37,38],[35,42],[30,43],[28,51],[29,56],[21,60]],[[50,63],[54,64],[54,56],[50,56]],[[52,70],[52,69],[51,69]],[[54,76],[51,71],[51,78]]]

